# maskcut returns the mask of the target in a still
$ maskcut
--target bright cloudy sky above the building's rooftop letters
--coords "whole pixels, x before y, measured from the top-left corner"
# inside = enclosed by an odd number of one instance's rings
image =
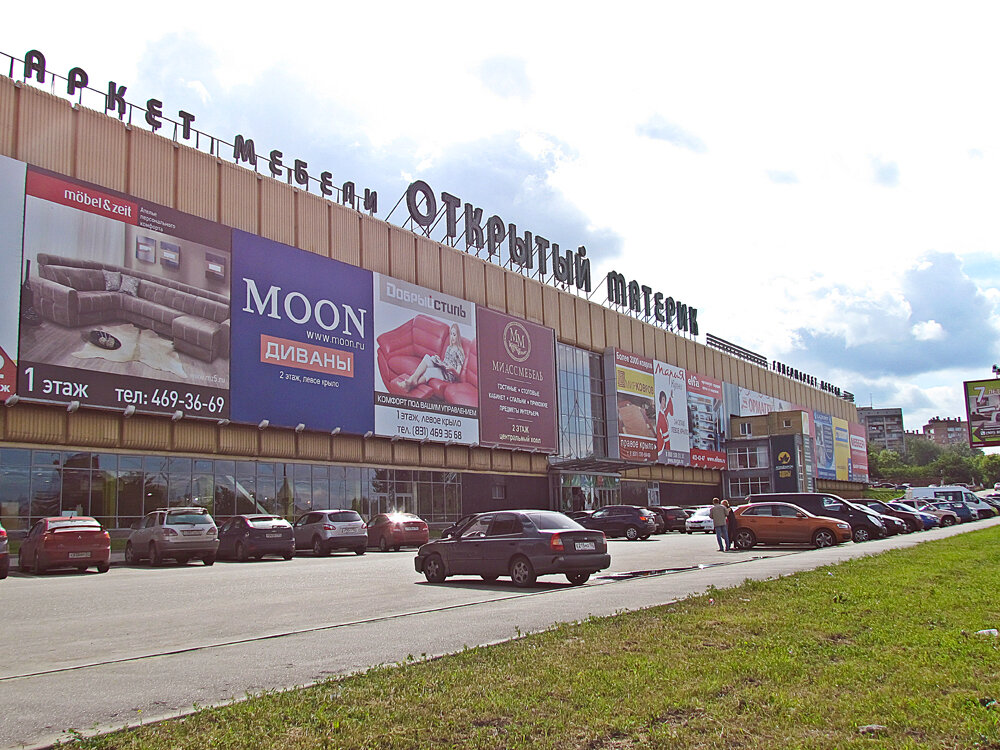
[[[380,218],[421,178],[586,245],[595,284],[646,280],[907,429],[963,414],[1000,363],[1000,6],[589,5],[18,3],[0,52],[376,189]]]

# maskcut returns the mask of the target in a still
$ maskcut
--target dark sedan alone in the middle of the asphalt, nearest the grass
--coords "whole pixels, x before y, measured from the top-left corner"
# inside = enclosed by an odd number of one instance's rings
[[[448,576],[478,575],[484,581],[510,576],[531,586],[541,575],[562,573],[579,585],[611,565],[601,531],[585,529],[562,513],[510,510],[480,513],[457,537],[435,539],[413,561],[430,583]]]

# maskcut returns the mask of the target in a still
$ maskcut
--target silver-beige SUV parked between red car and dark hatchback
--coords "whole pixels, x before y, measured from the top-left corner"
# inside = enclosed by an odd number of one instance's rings
[[[125,543],[125,562],[142,560],[156,567],[166,559],[187,565],[194,558],[214,565],[219,549],[218,530],[212,515],[201,507],[158,508],[147,513]]]

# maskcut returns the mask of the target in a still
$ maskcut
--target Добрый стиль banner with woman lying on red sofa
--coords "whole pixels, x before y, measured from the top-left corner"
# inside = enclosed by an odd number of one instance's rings
[[[373,277],[375,434],[478,443],[475,303]]]

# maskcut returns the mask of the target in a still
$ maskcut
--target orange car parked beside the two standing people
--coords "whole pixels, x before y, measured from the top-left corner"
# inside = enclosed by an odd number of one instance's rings
[[[851,541],[851,525],[836,518],[814,516],[791,503],[749,503],[735,511],[733,544],[811,544],[830,547]]]

